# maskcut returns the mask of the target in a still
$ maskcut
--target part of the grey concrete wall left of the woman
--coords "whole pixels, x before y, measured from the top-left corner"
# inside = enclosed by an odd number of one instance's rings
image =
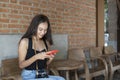
[[[0,65],[3,59],[17,57],[20,37],[21,35],[0,35]]]

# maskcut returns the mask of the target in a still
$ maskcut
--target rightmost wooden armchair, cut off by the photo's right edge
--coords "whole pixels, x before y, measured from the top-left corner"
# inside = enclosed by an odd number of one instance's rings
[[[112,46],[104,47],[104,54],[109,64],[109,80],[113,80],[114,72],[120,69],[120,54]]]

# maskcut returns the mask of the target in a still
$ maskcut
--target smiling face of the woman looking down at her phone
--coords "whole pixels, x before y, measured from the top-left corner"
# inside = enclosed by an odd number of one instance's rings
[[[37,38],[41,39],[47,33],[48,23],[43,22],[38,25]]]

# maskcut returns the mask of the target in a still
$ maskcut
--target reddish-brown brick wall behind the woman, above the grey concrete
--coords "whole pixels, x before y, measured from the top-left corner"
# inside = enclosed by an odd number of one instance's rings
[[[0,0],[0,34],[23,34],[37,13],[53,34],[68,34],[69,48],[96,44],[96,0]]]

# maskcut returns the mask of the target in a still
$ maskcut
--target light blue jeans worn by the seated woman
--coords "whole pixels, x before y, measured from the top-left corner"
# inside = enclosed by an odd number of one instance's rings
[[[22,76],[22,80],[65,80],[63,77],[52,76],[52,75],[49,75],[49,78],[35,79],[36,71],[35,70],[25,70],[25,69],[22,71],[21,76]]]

